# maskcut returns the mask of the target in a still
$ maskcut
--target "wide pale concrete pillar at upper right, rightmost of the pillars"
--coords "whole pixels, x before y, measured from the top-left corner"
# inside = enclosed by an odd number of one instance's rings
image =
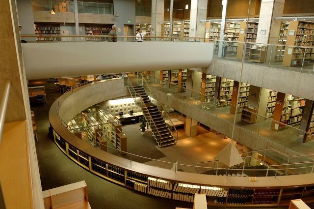
[[[262,0],[256,43],[278,44],[281,20],[275,18],[282,17],[284,5],[285,0]],[[267,48],[266,62],[275,60],[276,49],[276,46]]]

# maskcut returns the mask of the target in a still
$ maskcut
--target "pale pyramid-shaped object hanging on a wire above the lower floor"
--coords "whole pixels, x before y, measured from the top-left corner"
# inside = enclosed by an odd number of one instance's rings
[[[240,156],[238,150],[233,143],[229,143],[224,149],[222,149],[215,157],[216,160],[225,164],[228,167],[242,163],[243,159]]]

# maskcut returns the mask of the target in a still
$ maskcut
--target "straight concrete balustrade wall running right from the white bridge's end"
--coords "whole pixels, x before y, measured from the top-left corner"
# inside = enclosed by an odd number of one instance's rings
[[[241,62],[213,59],[209,68],[194,69],[239,81]],[[241,82],[314,100],[314,75],[257,64],[243,64]]]

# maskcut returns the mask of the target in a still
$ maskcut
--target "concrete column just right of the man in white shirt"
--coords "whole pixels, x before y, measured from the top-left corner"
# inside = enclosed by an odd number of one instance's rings
[[[156,36],[161,35],[164,3],[164,0],[152,0],[152,32],[155,32]]]

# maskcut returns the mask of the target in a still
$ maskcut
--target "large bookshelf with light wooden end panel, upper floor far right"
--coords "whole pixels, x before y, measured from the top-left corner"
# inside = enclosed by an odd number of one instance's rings
[[[313,21],[290,21],[288,28],[288,46],[314,46],[314,22]],[[314,62],[314,49],[286,47],[283,58],[284,66],[300,66],[303,60]]]

